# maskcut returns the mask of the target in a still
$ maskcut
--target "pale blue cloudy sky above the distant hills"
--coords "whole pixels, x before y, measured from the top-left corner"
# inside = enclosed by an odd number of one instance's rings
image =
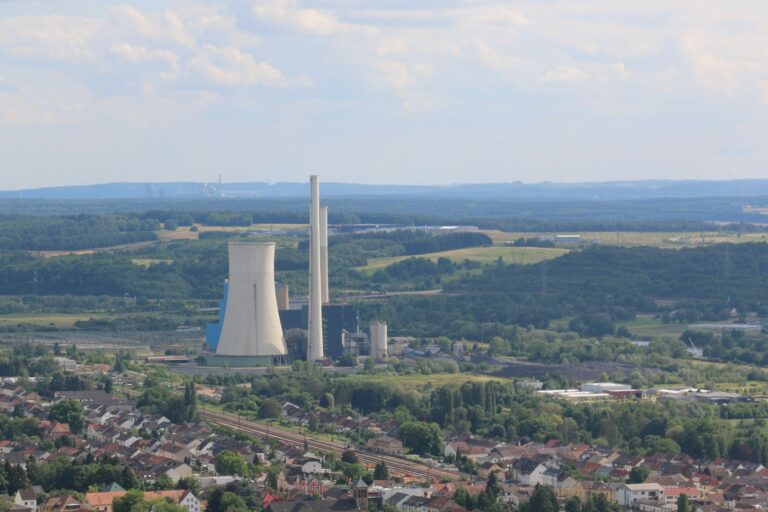
[[[0,189],[768,178],[765,0],[0,0]]]

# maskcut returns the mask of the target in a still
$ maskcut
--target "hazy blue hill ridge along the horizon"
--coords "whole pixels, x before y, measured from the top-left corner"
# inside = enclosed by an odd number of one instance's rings
[[[324,196],[422,196],[463,199],[622,200],[768,196],[768,180],[647,180],[596,183],[478,183],[458,185],[365,185],[323,183]],[[103,183],[0,191],[0,198],[150,199],[194,197],[304,197],[307,183]]]

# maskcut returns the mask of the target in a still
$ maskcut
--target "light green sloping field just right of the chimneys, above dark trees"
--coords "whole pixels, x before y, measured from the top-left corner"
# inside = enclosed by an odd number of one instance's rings
[[[544,260],[551,260],[563,254],[567,254],[568,249],[541,248],[541,247],[469,247],[466,249],[455,249],[453,251],[431,252],[428,254],[418,254],[415,256],[393,256],[390,258],[372,258],[368,260],[368,265],[358,267],[358,270],[373,272],[380,268],[387,267],[398,261],[407,258],[427,258],[437,261],[438,258],[448,258],[455,263],[462,263],[464,260],[479,261],[483,264],[495,263],[501,257],[504,263],[531,265]]]

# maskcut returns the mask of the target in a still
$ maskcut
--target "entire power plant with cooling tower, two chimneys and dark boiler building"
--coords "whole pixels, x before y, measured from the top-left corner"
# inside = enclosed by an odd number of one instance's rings
[[[229,279],[219,303],[219,322],[206,326],[210,366],[325,361],[343,355],[387,357],[387,324],[360,330],[357,310],[332,304],[328,283],[328,207],[320,205],[320,182],[310,177],[309,296],[291,302],[287,286],[275,283],[274,242],[232,242]]]

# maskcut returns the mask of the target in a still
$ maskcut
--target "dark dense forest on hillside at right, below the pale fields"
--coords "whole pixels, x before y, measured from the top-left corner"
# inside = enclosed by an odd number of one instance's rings
[[[492,266],[446,286],[451,292],[498,293],[515,304],[627,318],[659,310],[655,301],[687,302],[702,318],[732,308],[765,312],[768,244],[719,244],[667,250],[592,246],[536,265]]]

